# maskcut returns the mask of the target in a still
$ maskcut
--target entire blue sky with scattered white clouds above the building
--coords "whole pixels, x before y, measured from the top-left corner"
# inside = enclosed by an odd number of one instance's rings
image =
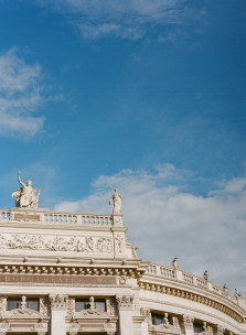
[[[1,0],[1,207],[19,170],[49,209],[109,213],[118,186],[140,257],[179,256],[246,290],[245,11],[244,0]]]

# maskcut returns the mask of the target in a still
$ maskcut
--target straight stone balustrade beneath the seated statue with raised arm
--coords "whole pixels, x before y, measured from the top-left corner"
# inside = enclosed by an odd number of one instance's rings
[[[0,209],[0,223],[36,221],[46,225],[113,226],[113,216],[104,214],[72,214],[41,210]]]

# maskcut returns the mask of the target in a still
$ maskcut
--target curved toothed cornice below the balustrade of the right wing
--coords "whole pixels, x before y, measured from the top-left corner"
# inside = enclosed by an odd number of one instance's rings
[[[161,285],[161,284],[156,284],[156,283],[148,283],[148,282],[143,282],[143,281],[139,281],[139,287],[140,287],[140,289],[143,289],[143,290],[156,291],[156,292],[160,292],[160,293],[164,293],[164,294],[175,295],[175,296],[179,296],[179,298],[192,300],[192,301],[208,305],[208,306],[211,306],[215,310],[218,310],[222,313],[233,317],[234,320],[236,320],[239,323],[244,322],[244,317],[240,314],[238,314],[237,312],[235,312],[234,310],[232,310],[227,305],[225,305],[223,303],[220,303],[220,302],[217,302],[213,299],[210,299],[205,295],[197,294],[197,293],[194,293],[194,292],[191,292],[191,291],[188,291],[188,290],[175,289],[175,288]]]

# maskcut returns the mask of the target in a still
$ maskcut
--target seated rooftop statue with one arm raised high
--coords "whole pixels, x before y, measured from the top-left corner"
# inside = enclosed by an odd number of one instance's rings
[[[32,181],[28,181],[26,185],[21,181],[21,173],[18,172],[18,181],[22,187],[15,190],[12,193],[12,197],[15,198],[15,207],[20,208],[38,208],[39,197],[41,188],[38,187],[34,190],[32,187]]]

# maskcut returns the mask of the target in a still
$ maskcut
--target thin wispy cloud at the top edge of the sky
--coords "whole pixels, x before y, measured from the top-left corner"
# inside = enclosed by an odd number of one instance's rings
[[[139,40],[153,26],[181,24],[196,18],[185,0],[39,0],[69,15],[85,39],[104,36]]]

